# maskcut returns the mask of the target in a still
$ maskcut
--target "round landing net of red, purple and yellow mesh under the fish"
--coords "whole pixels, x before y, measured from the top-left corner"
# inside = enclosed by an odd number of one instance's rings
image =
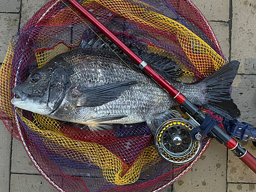
[[[179,81],[203,79],[227,62],[205,17],[190,1],[79,3],[118,38],[128,38],[138,49],[174,60],[183,70]],[[1,119],[12,136],[23,142],[40,174],[59,191],[161,190],[195,164],[208,147],[208,137],[194,161],[175,165],[158,155],[145,123],[92,132],[15,108],[10,102],[11,90],[37,65],[40,68],[93,38],[94,32],[81,17],[66,1],[53,0],[11,39],[0,75]],[[220,124],[218,114],[202,110]]]

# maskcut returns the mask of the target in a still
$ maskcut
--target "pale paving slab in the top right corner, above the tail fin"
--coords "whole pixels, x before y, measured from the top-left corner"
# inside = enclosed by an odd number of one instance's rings
[[[233,1],[231,59],[241,62],[239,73],[255,74],[256,2]]]

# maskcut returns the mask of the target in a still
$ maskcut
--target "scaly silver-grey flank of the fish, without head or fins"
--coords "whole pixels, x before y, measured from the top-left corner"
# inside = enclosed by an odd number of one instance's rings
[[[65,118],[67,121],[84,123],[86,120],[102,116],[126,115],[127,117],[120,120],[104,123],[137,123],[153,120],[168,110],[168,106],[172,108],[178,104],[128,57],[122,58],[132,70],[117,55],[103,50],[77,49],[61,56],[67,62],[67,67],[74,69],[74,74],[70,76],[73,87],[88,88],[129,79],[134,79],[138,83],[121,93],[116,100],[95,107],[77,106],[77,98],[73,98],[71,92],[68,92],[60,108],[51,115],[55,119]],[[182,91],[191,90],[186,84],[177,81],[172,83],[177,89],[179,86]],[[197,91],[196,87],[194,91]],[[195,98],[198,98],[197,94]]]

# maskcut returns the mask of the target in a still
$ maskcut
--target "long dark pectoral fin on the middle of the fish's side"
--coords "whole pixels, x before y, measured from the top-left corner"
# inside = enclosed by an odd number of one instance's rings
[[[92,88],[77,87],[75,91],[79,94],[76,93],[75,95],[80,95],[77,106],[100,106],[117,99],[121,93],[137,83],[136,80],[130,79]]]

